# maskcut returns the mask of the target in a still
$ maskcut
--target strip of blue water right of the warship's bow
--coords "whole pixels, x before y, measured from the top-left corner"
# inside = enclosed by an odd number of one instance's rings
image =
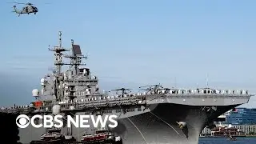
[[[256,138],[237,138],[237,141],[230,141],[227,138],[199,138],[199,144],[256,144]]]

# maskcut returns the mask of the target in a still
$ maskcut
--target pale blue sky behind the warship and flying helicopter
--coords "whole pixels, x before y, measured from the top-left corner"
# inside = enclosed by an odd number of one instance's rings
[[[34,100],[31,90],[53,66],[48,45],[58,45],[59,30],[63,46],[73,38],[88,54],[103,90],[208,83],[256,94],[255,1],[30,0],[38,14],[20,17],[6,2],[12,1],[0,2],[1,106]],[[244,106],[256,108],[256,98]]]

